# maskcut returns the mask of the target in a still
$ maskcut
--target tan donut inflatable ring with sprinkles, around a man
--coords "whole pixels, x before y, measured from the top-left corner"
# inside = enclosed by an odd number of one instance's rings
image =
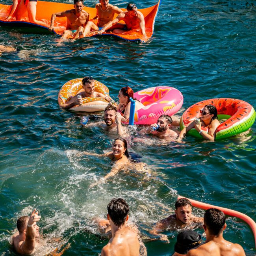
[[[61,106],[61,104],[64,104],[70,97],[73,97],[83,91],[82,80],[83,78],[72,79],[61,87],[58,95],[59,106]],[[106,87],[106,85],[98,82],[97,80],[93,81],[95,85],[95,91],[103,94],[109,93],[108,87]],[[82,98],[82,100],[83,104],[81,106],[74,106],[73,108],[70,108],[70,110],[84,112],[102,111],[109,104],[108,101],[101,97],[85,97]]]

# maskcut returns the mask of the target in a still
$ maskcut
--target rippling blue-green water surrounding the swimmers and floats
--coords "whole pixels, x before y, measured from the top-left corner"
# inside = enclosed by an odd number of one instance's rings
[[[126,6],[120,0],[113,4]],[[156,2],[136,4],[143,8]],[[103,37],[58,47],[56,35],[0,27],[0,44],[18,49],[0,57],[0,255],[15,255],[9,239],[17,217],[33,208],[41,211],[39,226],[46,239],[62,237],[64,245],[71,243],[64,255],[100,253],[107,240],[100,239],[91,219],[106,217],[113,197],[127,200],[130,219],[145,238],[151,237],[153,223],[173,211],[178,195],[255,219],[255,124],[245,135],[211,143],[187,137],[186,143],[164,144],[133,133],[129,148],[142,156],[154,175],[130,170],[91,189],[89,185],[106,175],[111,165],[108,159],[78,157],[76,152],[107,152],[113,135],[82,128],[79,115],[59,109],[57,102],[65,82],[93,75],[109,87],[115,100],[125,85],[134,91],[176,87],[184,95],[179,116],[206,98],[239,98],[255,107],[254,4],[163,1],[147,44]],[[100,115],[91,116],[91,122],[98,120]],[[247,255],[255,255],[249,226],[232,217],[227,224],[224,237],[241,244]],[[169,244],[146,243],[149,256],[173,252],[177,233],[165,234]]]

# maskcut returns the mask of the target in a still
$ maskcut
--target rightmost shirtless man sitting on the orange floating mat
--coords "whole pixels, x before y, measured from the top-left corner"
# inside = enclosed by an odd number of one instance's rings
[[[123,20],[125,24],[118,23],[120,20]],[[126,11],[120,13],[114,20],[108,22],[104,28],[98,32],[98,35],[106,32],[106,30],[110,29],[112,26],[113,33],[116,34],[121,34],[129,30],[139,29],[142,35],[147,37],[145,32],[144,16],[140,11],[138,11],[135,4],[128,4]]]

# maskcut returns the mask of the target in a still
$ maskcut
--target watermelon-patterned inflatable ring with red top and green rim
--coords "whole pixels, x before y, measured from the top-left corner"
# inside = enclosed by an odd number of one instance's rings
[[[247,102],[232,98],[216,98],[200,101],[189,107],[180,119],[180,128],[183,129],[197,117],[201,117],[200,109],[211,104],[217,108],[218,119],[226,119],[216,130],[216,139],[223,139],[234,136],[248,130],[255,121],[255,110]],[[208,128],[201,128],[208,132]],[[202,138],[195,128],[188,131],[188,134]]]

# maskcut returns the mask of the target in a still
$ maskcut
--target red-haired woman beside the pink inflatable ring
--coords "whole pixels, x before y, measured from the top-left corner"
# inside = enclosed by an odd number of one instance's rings
[[[122,121],[127,121],[127,119],[130,117],[130,98],[135,100],[135,111],[145,107],[141,102],[139,102],[139,100],[134,98],[134,91],[128,86],[121,88],[118,94],[118,98],[119,104],[117,105],[117,111],[120,111],[123,114]]]

